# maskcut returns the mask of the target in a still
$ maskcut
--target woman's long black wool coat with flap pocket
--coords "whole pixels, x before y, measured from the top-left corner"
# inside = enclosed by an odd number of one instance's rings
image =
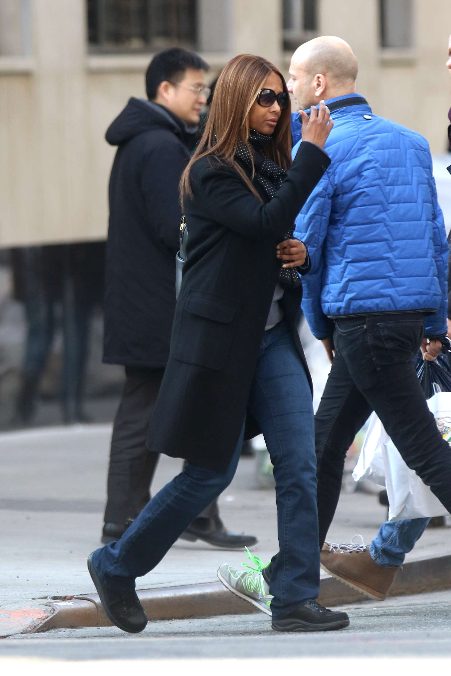
[[[264,202],[219,160],[193,165],[187,262],[149,450],[226,472],[281,268],[276,245],[329,164],[327,153],[302,143],[281,188],[270,201],[262,195]],[[308,374],[295,329],[301,298],[302,287],[285,291],[283,310]],[[246,438],[258,433],[248,416]]]

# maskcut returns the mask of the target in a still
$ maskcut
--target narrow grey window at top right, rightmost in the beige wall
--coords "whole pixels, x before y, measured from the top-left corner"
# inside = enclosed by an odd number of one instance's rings
[[[379,0],[381,47],[413,47],[412,0]]]

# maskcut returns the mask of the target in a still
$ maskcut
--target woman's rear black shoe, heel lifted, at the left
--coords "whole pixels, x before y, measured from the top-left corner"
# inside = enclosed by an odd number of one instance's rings
[[[97,594],[99,594],[103,610],[112,623],[122,631],[128,631],[128,633],[143,631],[147,625],[147,616],[136,592],[116,592],[114,589],[105,587],[95,572],[93,554],[94,552],[88,556],[88,570]]]

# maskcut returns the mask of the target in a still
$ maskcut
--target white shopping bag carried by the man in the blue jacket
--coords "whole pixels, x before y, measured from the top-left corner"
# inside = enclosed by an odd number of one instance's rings
[[[434,414],[440,433],[451,443],[451,392],[437,392],[427,405]],[[356,481],[366,478],[381,485],[385,476],[390,521],[448,514],[429,486],[402,460],[375,413],[371,416],[370,427],[352,476]]]

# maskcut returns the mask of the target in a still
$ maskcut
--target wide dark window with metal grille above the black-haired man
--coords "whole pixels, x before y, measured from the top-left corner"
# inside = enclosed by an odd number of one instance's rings
[[[91,52],[195,47],[196,0],[88,0]]]

